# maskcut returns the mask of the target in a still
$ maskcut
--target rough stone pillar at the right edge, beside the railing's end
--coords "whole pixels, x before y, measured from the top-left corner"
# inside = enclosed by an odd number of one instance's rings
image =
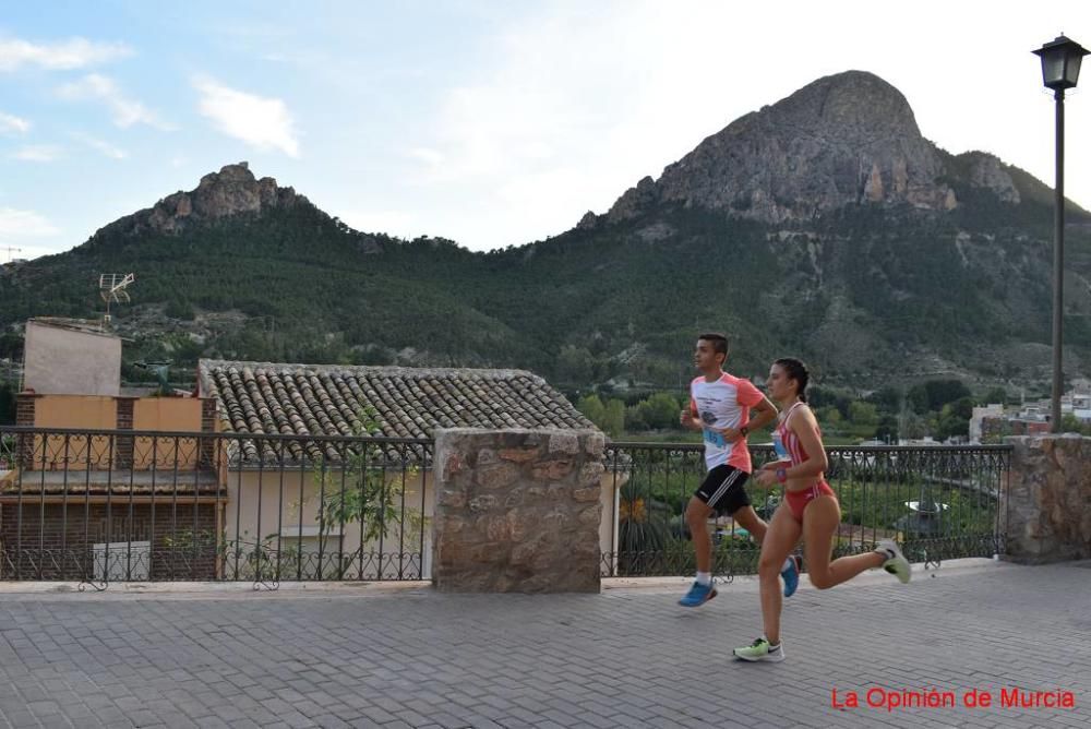
[[[1091,438],[1005,439],[1014,446],[1000,501],[1007,557],[1016,562],[1091,558]]]

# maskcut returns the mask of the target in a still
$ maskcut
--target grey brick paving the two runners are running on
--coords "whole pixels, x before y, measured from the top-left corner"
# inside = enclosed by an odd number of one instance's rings
[[[730,657],[759,632],[751,581],[697,610],[675,603],[681,579],[561,596],[4,585],[0,727],[1084,727],[1089,566],[804,586],[782,664]],[[868,707],[877,686],[959,705]],[[1011,688],[1076,706],[1000,706]],[[831,706],[832,689],[861,706]],[[994,705],[962,706],[973,689]]]

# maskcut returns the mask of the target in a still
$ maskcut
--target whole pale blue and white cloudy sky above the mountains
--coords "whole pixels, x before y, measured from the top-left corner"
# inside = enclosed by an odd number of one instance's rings
[[[241,160],[359,230],[518,246],[851,69],[1052,187],[1030,51],[1060,33],[1091,48],[1091,2],[0,0],[0,262]],[[1091,210],[1087,69],[1065,191]]]

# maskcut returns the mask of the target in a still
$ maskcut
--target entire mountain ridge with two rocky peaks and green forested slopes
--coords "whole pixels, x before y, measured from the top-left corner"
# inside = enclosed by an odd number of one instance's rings
[[[187,362],[524,367],[577,386],[673,385],[699,328],[741,339],[733,361],[751,373],[793,351],[861,386],[944,368],[1042,380],[1051,194],[995,155],[937,147],[900,92],[852,71],[731,122],[607,213],[509,250],[363,234],[228,165],[51,267],[4,266],[0,324],[85,314],[94,292],[74,296],[76,282],[136,267],[141,303],[118,326],[137,352]],[[1079,373],[1091,216],[1068,210],[1066,366]]]

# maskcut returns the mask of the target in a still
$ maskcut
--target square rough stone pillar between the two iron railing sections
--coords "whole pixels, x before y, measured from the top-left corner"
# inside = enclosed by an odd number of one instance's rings
[[[603,446],[595,430],[436,430],[436,589],[598,591]]]

